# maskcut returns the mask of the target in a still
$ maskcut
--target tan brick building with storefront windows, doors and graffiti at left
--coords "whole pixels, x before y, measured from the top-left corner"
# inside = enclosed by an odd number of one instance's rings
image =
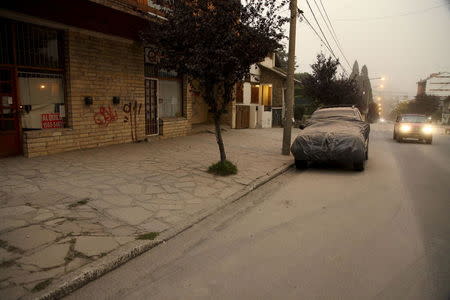
[[[145,0],[5,1],[0,156],[27,157],[186,135],[186,78],[153,64]]]

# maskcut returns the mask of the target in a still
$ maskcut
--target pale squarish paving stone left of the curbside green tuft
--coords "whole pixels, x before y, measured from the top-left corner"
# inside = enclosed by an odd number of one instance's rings
[[[75,242],[75,251],[94,256],[110,252],[118,246],[119,243],[112,237],[81,236]]]

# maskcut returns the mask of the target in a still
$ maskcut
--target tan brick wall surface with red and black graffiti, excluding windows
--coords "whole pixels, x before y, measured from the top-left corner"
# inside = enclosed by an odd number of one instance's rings
[[[143,140],[144,53],[138,42],[66,31],[66,103],[69,128],[24,132],[24,155]],[[186,80],[184,80],[186,82]],[[192,103],[184,84],[184,118],[163,120],[163,137],[186,135]],[[87,106],[84,97],[93,98]],[[120,97],[120,104],[112,98]]]

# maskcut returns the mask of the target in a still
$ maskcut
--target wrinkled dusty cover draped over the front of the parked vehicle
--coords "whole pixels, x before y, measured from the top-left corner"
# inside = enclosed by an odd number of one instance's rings
[[[311,118],[291,146],[297,160],[361,161],[370,125],[346,116]]]

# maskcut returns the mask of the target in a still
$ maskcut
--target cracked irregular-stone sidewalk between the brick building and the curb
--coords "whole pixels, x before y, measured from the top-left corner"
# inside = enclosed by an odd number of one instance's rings
[[[225,132],[239,168],[230,177],[206,172],[218,160],[210,133],[1,159],[0,298],[44,289],[139,234],[163,232],[223,203],[292,163],[280,155],[281,137],[280,128]]]

